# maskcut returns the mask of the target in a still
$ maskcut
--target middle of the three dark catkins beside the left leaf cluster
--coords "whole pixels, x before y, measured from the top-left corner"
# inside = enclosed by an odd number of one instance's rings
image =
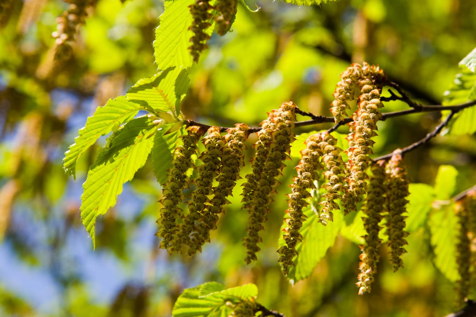
[[[183,217],[183,225],[180,226],[180,237],[188,245],[188,255],[191,256],[205,242],[209,241],[210,231],[216,229],[218,215],[206,209],[209,202],[208,196],[212,191],[213,180],[218,176],[218,168],[221,165],[221,148],[225,145],[220,134],[220,128],[212,126],[208,129],[207,135],[203,138],[205,151],[200,155],[202,165],[196,168],[197,178],[195,185],[197,188],[192,193],[191,201],[188,204],[188,214]]]

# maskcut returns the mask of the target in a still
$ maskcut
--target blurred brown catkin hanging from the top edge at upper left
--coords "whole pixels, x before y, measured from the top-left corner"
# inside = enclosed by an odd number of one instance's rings
[[[57,30],[51,36],[56,38],[55,58],[68,57],[71,53],[70,42],[74,41],[79,25],[84,24],[87,16],[86,8],[89,0],[65,0],[69,3],[68,9],[56,18]]]

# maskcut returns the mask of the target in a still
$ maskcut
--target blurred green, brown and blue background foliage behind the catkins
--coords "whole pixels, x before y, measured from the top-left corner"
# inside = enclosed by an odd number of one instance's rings
[[[7,2],[0,29],[0,316],[170,316],[183,288],[210,280],[226,287],[255,283],[258,302],[289,317],[430,317],[456,309],[454,284],[432,262],[428,225],[408,237],[405,269],[393,273],[382,249],[370,295],[357,296],[359,248],[342,236],[311,277],[291,285],[281,275],[276,250],[292,168],[280,180],[282,194],[271,206],[256,264],[243,261],[247,212],[241,210],[239,190],[212,234],[214,242],[201,254],[190,259],[159,250],[154,234],[160,185],[148,165],[125,185],[116,207],[98,219],[93,251],[79,204],[98,147],[80,159],[76,181],[63,173],[61,159],[96,107],[155,73],[152,41],[163,2],[97,1],[67,60],[53,59],[51,37],[66,3]],[[232,32],[213,35],[190,70],[182,104],[187,118],[257,126],[288,99],[329,115],[339,74],[363,60],[379,64],[418,102],[440,104],[458,62],[476,46],[474,1],[256,3],[257,13],[238,8]],[[385,111],[405,107],[392,102]],[[375,154],[421,139],[440,116],[379,122]],[[248,156],[254,141],[248,140]],[[475,145],[472,136],[446,135],[407,154],[412,182],[433,185],[439,166],[449,164],[459,172],[453,194],[472,186]]]

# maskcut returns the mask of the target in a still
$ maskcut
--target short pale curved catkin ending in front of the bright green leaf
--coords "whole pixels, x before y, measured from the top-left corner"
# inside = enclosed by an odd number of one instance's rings
[[[319,203],[322,206],[319,222],[323,225],[327,225],[328,221],[334,221],[332,211],[340,209],[335,200],[342,198],[345,169],[340,155],[342,149],[338,148],[336,144],[337,139],[334,136],[327,132],[322,133],[319,147],[323,152],[322,163],[326,164],[324,176],[327,180],[323,186],[326,189],[326,193],[322,195],[324,201]]]

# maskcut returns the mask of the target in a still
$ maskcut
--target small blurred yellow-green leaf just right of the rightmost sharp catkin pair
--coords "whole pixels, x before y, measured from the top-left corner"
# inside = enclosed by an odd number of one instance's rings
[[[407,197],[408,218],[405,230],[412,233],[426,222],[431,203],[435,199],[435,191],[430,185],[422,183],[410,184],[408,190],[410,195]]]

